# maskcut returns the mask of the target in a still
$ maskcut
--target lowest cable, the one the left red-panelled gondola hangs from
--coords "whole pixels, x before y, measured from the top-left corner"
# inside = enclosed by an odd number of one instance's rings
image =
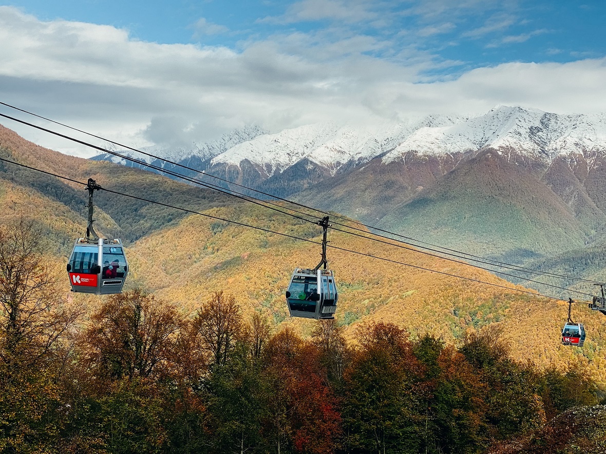
[[[85,183],[80,182],[78,180],[74,180],[74,179],[71,179],[71,178],[68,178],[68,177],[64,177],[64,176],[61,176],[61,175],[58,175],[58,174],[55,174],[55,173],[52,173],[52,172],[44,171],[42,169],[38,169],[38,168],[35,168],[33,166],[28,166],[28,165],[25,165],[25,164],[14,162],[12,160],[4,159],[2,157],[0,157],[0,160],[4,161],[4,162],[12,163],[14,165],[18,165],[18,166],[21,166],[21,167],[24,167],[24,168],[35,170],[35,171],[38,171],[38,172],[41,172],[41,173],[44,173],[44,174],[47,174],[47,175],[50,175],[50,176],[53,176],[53,177],[57,177],[57,178],[61,178],[61,179],[67,180],[67,181],[78,183],[78,184],[83,185],[83,186],[86,185]],[[107,192],[110,192],[112,194],[116,194],[118,196],[130,197],[131,199],[141,200],[141,201],[147,202],[147,203],[154,203],[156,205],[161,205],[161,206],[164,206],[166,208],[178,209],[178,210],[181,210],[181,211],[184,211],[184,212],[189,212],[191,214],[198,214],[198,215],[202,215],[202,216],[205,216],[205,217],[208,217],[208,218],[211,218],[211,219],[222,220],[224,222],[229,222],[229,223],[233,223],[233,224],[236,224],[236,225],[239,225],[239,226],[257,229],[257,230],[264,231],[264,232],[267,232],[267,233],[281,235],[281,236],[288,237],[288,238],[291,238],[291,239],[301,240],[301,241],[308,242],[308,243],[313,243],[315,245],[322,245],[322,243],[320,243],[320,242],[315,242],[313,240],[296,237],[295,235],[288,235],[288,234],[285,234],[285,233],[282,233],[282,232],[276,232],[276,231],[273,231],[273,230],[270,230],[270,229],[265,229],[265,228],[262,228],[262,227],[248,225],[248,224],[245,224],[245,223],[242,223],[242,222],[238,222],[238,221],[234,221],[234,220],[230,220],[230,219],[224,219],[222,217],[213,216],[213,215],[210,215],[210,214],[205,214],[205,213],[201,213],[201,212],[198,212],[198,211],[193,211],[191,209],[181,208],[179,206],[168,205],[167,203],[156,202],[155,200],[144,199],[143,197],[133,196],[132,194],[124,194],[123,192],[113,191],[112,189],[102,188],[101,186],[99,186],[99,188],[101,188],[101,190],[103,190],[103,191],[107,191]],[[507,289],[507,290],[510,290],[510,291],[513,291],[513,292],[521,292],[521,293],[530,294],[530,295],[534,295],[534,296],[550,298],[552,300],[557,300],[557,301],[566,301],[566,300],[562,300],[562,298],[552,297],[552,296],[541,294],[541,293],[538,293],[538,292],[531,292],[531,291],[520,290],[520,289],[516,289],[516,288],[507,287],[507,286],[504,286],[504,285],[499,285],[499,284],[494,284],[494,283],[490,283],[490,282],[487,282],[487,281],[482,281],[482,280],[479,280],[479,279],[474,279],[474,278],[470,278],[470,277],[459,276],[457,274],[452,274],[452,273],[448,273],[448,272],[445,272],[445,271],[438,271],[438,270],[435,270],[435,269],[424,268],[422,266],[411,265],[410,263],[404,263],[404,262],[399,262],[397,260],[391,260],[390,258],[379,257],[378,255],[366,254],[365,252],[353,251],[352,249],[341,248],[339,246],[330,246],[329,245],[327,247],[328,248],[332,248],[332,249],[336,249],[336,250],[339,250],[339,251],[350,252],[351,254],[364,255],[366,257],[376,258],[378,260],[384,260],[385,262],[397,263],[398,265],[410,266],[411,268],[422,269],[424,271],[435,272],[435,273],[438,273],[438,274],[443,274],[443,275],[447,275],[447,276],[451,276],[451,277],[456,277],[456,278],[460,278],[460,279],[464,279],[464,280],[469,280],[469,281],[473,281],[473,282],[476,282],[476,283],[481,283],[481,284],[490,285],[490,286],[494,286],[494,287],[498,287],[498,288],[502,288],[502,289]]]

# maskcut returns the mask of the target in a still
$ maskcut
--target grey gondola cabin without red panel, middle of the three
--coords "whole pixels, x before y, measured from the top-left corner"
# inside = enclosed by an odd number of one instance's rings
[[[297,268],[286,292],[291,317],[335,318],[339,294],[330,269]]]

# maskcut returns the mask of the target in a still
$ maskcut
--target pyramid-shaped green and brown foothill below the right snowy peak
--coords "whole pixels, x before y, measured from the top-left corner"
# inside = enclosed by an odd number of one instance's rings
[[[582,248],[587,239],[544,182],[495,151],[461,163],[378,225],[512,263]]]

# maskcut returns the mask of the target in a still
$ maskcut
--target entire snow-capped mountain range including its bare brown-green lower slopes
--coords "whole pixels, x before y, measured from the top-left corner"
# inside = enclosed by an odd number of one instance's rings
[[[238,183],[222,182],[235,191],[287,197],[482,257],[539,263],[570,250],[586,261],[593,256],[584,248],[606,245],[606,113],[498,106],[379,126],[251,128],[154,154]]]

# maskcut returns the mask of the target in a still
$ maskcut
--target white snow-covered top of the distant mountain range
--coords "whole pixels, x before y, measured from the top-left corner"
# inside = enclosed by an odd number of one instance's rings
[[[191,149],[151,146],[142,150],[179,163],[196,157],[210,171],[239,171],[248,162],[261,179],[268,179],[298,163],[334,176],[345,165],[357,166],[376,157],[387,165],[410,154],[439,157],[485,148],[515,151],[547,164],[564,154],[606,151],[606,113],[562,115],[498,106],[473,117],[431,115],[364,127],[315,123],[271,134],[246,127],[213,142],[194,143]],[[148,163],[155,160],[139,153],[121,153]],[[106,155],[96,159],[125,163]]]

